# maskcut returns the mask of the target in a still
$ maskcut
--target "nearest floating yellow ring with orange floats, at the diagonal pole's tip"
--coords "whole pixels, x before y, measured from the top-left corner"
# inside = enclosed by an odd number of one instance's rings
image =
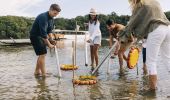
[[[79,76],[77,79],[73,79],[73,84],[76,85],[93,85],[97,83],[96,76],[91,75],[82,75]]]

